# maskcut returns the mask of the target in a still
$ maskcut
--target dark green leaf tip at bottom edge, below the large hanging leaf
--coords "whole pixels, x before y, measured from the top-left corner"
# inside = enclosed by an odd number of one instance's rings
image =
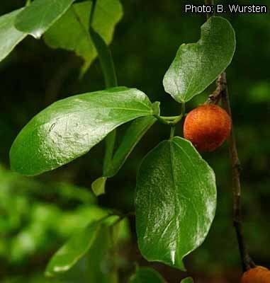
[[[150,267],[138,267],[135,274],[130,277],[129,283],[164,283],[159,272]]]

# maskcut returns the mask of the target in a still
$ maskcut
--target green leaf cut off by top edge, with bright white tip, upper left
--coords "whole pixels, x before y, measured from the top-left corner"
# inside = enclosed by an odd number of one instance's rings
[[[15,26],[23,33],[40,38],[72,5],[74,0],[34,0],[18,14]]]

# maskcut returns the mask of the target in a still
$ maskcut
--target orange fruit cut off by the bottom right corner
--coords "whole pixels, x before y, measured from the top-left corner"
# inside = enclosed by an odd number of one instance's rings
[[[270,270],[257,266],[244,272],[241,283],[270,283]]]

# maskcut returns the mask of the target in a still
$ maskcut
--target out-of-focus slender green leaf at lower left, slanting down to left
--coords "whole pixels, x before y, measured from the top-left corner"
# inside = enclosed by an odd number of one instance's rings
[[[89,248],[91,248],[100,229],[101,221],[97,221],[72,236],[72,238],[53,255],[47,265],[45,275],[53,276],[57,273],[66,272],[74,266],[75,263],[87,253]]]

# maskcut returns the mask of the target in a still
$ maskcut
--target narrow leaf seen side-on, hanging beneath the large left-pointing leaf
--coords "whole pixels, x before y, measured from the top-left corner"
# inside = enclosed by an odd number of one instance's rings
[[[157,119],[155,117],[149,116],[137,118],[131,123],[130,127],[128,127],[125,132],[120,146],[113,156],[110,166],[108,166],[108,168],[104,171],[104,175],[106,177],[113,177],[113,175],[118,173],[120,168],[123,166],[123,163],[125,163],[125,160],[133,151],[134,147],[156,121]]]

